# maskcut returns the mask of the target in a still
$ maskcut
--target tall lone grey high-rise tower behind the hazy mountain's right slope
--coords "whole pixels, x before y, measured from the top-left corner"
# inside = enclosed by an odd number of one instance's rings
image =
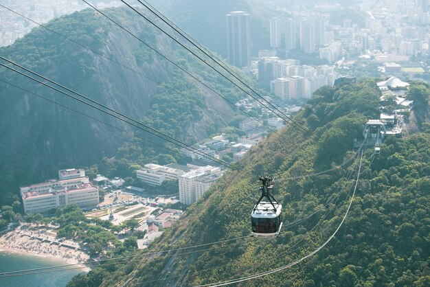
[[[249,14],[243,11],[229,12],[227,19],[227,60],[236,67],[251,65],[249,42]]]

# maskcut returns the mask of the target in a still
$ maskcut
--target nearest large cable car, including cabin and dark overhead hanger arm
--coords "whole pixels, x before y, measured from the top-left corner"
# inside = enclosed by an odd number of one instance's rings
[[[282,227],[282,205],[273,197],[273,180],[260,176],[262,194],[251,213],[251,234],[257,237],[278,236]],[[268,201],[261,201],[267,198]]]

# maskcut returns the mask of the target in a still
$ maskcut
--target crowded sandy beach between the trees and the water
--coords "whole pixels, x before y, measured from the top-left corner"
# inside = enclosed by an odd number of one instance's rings
[[[89,260],[89,255],[84,251],[76,250],[76,248],[69,246],[60,246],[57,243],[53,243],[53,241],[54,237],[49,236],[49,231],[47,230],[34,231],[29,230],[28,227],[25,229],[18,227],[0,237],[0,250],[40,257],[54,257],[58,260],[63,260],[67,264],[77,264]],[[82,269],[85,272],[90,270],[83,264]]]

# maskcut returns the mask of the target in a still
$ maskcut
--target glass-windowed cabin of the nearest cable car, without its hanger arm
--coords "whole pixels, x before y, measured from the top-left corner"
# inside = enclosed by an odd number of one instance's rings
[[[251,214],[253,236],[277,236],[282,227],[282,205],[271,205],[262,201],[258,203]]]

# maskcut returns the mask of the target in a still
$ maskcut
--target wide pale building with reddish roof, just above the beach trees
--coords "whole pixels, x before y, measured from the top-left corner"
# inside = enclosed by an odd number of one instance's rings
[[[100,203],[98,187],[87,176],[51,180],[20,188],[25,213],[44,213],[51,209],[76,203],[89,208]]]

